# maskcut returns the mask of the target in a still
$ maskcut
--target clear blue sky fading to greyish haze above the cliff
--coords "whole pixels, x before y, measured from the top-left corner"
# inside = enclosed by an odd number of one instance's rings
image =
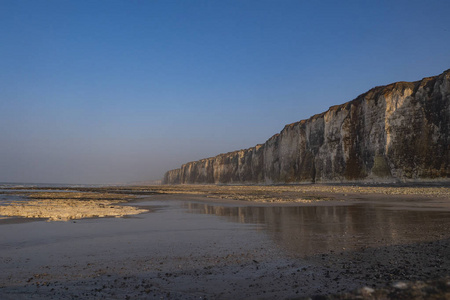
[[[0,0],[0,182],[159,179],[450,68],[450,1]]]

